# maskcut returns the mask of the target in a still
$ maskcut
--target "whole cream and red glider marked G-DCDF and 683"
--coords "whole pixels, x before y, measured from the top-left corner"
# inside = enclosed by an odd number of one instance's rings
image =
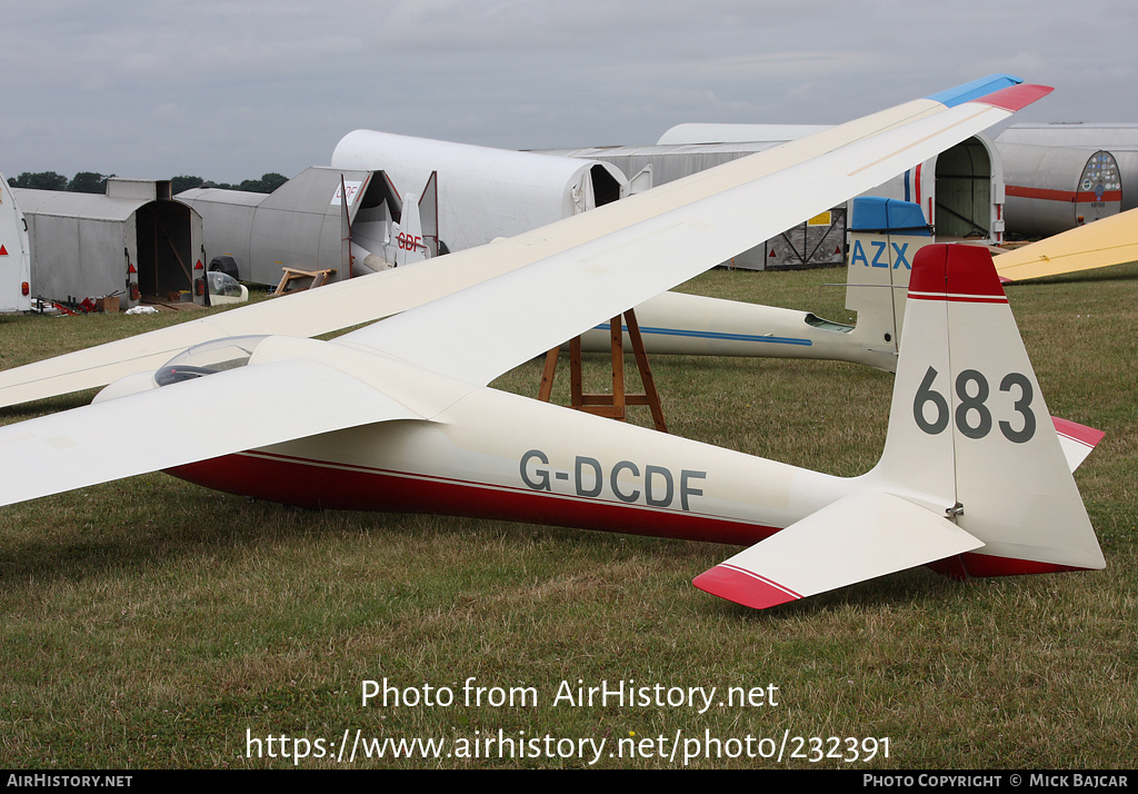
[[[0,504],[167,469],[296,505],[760,541],[696,580],[754,606],[921,564],[972,575],[1103,567],[982,249],[931,246],[914,263],[885,452],[861,477],[485,386],[1048,90],[986,85],[453,254],[471,286],[335,342],[221,339],[114,384],[92,406],[0,428]],[[224,437],[147,450],[110,442],[122,421],[239,399],[256,400],[257,420]]]

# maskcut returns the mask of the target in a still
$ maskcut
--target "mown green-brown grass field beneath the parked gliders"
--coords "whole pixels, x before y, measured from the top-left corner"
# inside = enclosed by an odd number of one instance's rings
[[[820,286],[843,276],[717,271],[685,288],[843,320],[841,290]],[[578,739],[605,739],[595,766],[608,768],[679,767],[707,747],[690,766],[1133,768],[1138,265],[1008,292],[1050,411],[1107,434],[1077,474],[1104,572],[960,583],[921,568],[756,612],[690,584],[731,547],[296,511],[148,475],[0,510],[0,768],[288,767],[296,739],[310,743],[306,768],[588,766]],[[0,367],[174,319],[0,318]],[[607,373],[603,358],[591,365]],[[497,385],[534,394],[539,371],[530,362]],[[666,357],[653,371],[681,435],[843,475],[884,442],[883,373]],[[122,443],[191,432],[172,419],[124,428]],[[464,705],[471,677],[484,699],[513,689],[536,703]],[[403,698],[444,687],[455,703],[364,706],[363,682],[385,678]],[[562,682],[605,680],[717,687],[717,703],[762,688],[764,701],[704,713],[554,703]],[[357,729],[447,745],[437,759],[315,758]],[[543,756],[498,759],[500,731]],[[787,736],[782,761],[728,758],[748,737],[767,754],[759,739]],[[793,742],[831,736],[847,760],[813,761],[817,745]],[[487,737],[490,759],[446,756],[476,755],[476,739],[485,755]],[[250,738],[262,758],[247,756]]]

